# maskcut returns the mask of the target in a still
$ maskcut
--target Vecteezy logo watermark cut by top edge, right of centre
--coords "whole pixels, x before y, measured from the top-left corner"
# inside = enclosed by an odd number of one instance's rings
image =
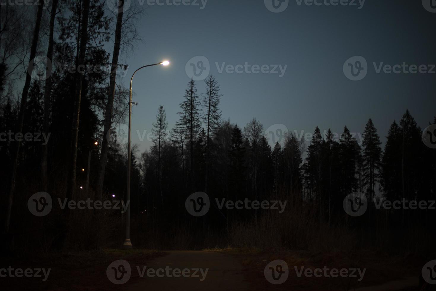
[[[365,0],[295,0],[298,6],[358,6],[358,10],[363,8]],[[286,10],[289,0],[264,0],[265,7],[274,13],[280,13]]]

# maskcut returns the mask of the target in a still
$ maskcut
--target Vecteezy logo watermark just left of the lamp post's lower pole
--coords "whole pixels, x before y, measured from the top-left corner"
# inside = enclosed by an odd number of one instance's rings
[[[124,201],[120,200],[106,200],[106,201],[100,201],[100,200],[91,200],[90,198],[86,200],[70,200],[68,201],[67,198],[62,201],[60,198],[58,198],[59,206],[62,210],[65,209],[65,207],[68,207],[68,209],[106,209],[106,210],[121,210],[122,213],[125,213],[127,210],[127,207],[129,206],[130,201],[127,201],[127,203],[124,203]],[[121,206],[120,206],[121,205]],[[29,200],[27,201],[27,208],[34,216],[46,216],[48,213],[51,212],[51,209],[53,207],[53,203],[51,200],[51,195],[47,192],[37,192],[34,195],[32,195]]]

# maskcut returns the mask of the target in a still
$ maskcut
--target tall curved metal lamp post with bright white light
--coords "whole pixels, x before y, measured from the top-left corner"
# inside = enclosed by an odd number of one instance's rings
[[[124,240],[123,248],[125,249],[131,249],[132,248],[132,242],[130,241],[130,138],[131,138],[131,125],[132,125],[132,81],[133,76],[142,68],[151,67],[155,65],[169,65],[170,62],[164,61],[157,64],[152,65],[146,65],[142,66],[139,69],[137,69],[135,72],[133,72],[132,78],[130,78],[130,98],[129,98],[129,141],[127,145],[127,197],[126,197],[126,204],[127,204],[127,211],[126,211],[126,240]]]

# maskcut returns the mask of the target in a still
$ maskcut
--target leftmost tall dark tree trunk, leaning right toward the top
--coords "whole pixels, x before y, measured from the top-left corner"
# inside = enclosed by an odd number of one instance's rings
[[[37,3],[38,3],[38,11],[37,11],[37,15],[36,15],[35,28],[33,31],[32,45],[31,45],[31,49],[30,49],[30,56],[29,56],[30,62],[29,62],[29,66],[27,68],[26,81],[24,82],[23,92],[21,94],[21,103],[20,103],[20,111],[18,113],[17,129],[15,130],[16,133],[20,133],[23,130],[24,111],[26,110],[27,94],[29,92],[31,75],[32,75],[33,66],[34,66],[33,64],[31,64],[31,62],[34,61],[34,58],[36,56],[36,47],[38,44],[43,2],[42,2],[42,0],[38,0]],[[20,145],[21,145],[20,141],[18,141],[18,140],[15,141],[14,150],[12,153],[12,159],[11,159],[12,171],[11,171],[11,175],[10,175],[9,197],[8,197],[8,201],[7,201],[6,219],[5,219],[5,224],[4,224],[5,233],[9,233],[10,215],[12,212],[12,204],[14,201],[15,177],[17,175],[18,154],[20,151]]]

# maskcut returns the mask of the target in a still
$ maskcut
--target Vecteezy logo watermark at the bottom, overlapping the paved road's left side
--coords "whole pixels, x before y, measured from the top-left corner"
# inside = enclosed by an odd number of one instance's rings
[[[165,268],[147,268],[147,266],[136,266],[136,270],[138,271],[138,275],[140,278],[143,278],[145,275],[147,277],[153,278],[179,278],[179,277],[185,277],[185,278],[201,278],[200,281],[204,281],[206,279],[206,276],[208,274],[209,269],[199,269],[199,268],[192,268],[192,269],[179,269],[179,268],[171,268],[170,266],[166,266]],[[109,281],[111,281],[113,284],[124,284],[127,281],[129,281],[130,276],[132,275],[132,270],[130,268],[129,262],[126,260],[116,260],[109,264],[109,266],[106,269],[106,276],[108,277]]]

